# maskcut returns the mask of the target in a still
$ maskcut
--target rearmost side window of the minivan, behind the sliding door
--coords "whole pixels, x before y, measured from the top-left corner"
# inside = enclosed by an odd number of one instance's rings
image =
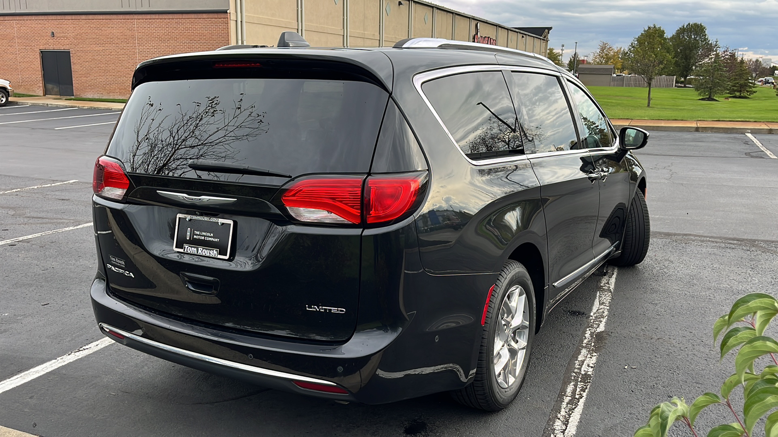
[[[502,72],[472,72],[426,82],[422,89],[470,159],[524,153]]]

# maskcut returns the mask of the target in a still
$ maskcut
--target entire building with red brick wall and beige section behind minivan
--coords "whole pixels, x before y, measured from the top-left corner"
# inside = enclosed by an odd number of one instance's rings
[[[0,79],[16,93],[126,97],[145,59],[273,45],[285,30],[324,47],[391,46],[407,37],[478,40],[538,54],[548,47],[547,31],[419,0],[2,0]]]

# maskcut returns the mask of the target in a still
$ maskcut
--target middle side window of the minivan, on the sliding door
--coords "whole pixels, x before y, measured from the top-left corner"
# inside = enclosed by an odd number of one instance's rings
[[[511,75],[527,154],[579,149],[573,115],[559,80],[534,73]]]

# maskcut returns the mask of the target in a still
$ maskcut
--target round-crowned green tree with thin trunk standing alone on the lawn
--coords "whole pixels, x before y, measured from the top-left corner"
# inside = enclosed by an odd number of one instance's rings
[[[651,106],[651,83],[671,62],[670,44],[664,29],[654,24],[640,33],[624,54],[624,68],[640,75],[648,84],[648,104]]]

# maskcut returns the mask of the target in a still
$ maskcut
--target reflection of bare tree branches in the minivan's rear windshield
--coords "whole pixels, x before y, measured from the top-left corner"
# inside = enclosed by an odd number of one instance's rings
[[[220,108],[219,97],[205,97],[205,104],[192,102],[191,110],[177,104],[178,112],[163,115],[161,103],[151,97],[135,123],[129,171],[182,177],[191,171],[191,159],[234,160],[236,142],[256,138],[268,131],[266,112],[255,105],[244,107],[243,94],[233,108]]]

